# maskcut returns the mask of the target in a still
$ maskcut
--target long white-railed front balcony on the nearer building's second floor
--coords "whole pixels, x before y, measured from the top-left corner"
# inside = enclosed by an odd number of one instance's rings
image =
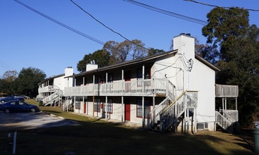
[[[65,96],[174,96],[169,80],[131,80],[66,87]]]

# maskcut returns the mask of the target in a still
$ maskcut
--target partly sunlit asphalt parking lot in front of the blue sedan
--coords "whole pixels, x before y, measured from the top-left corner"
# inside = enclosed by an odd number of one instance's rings
[[[61,125],[78,125],[78,123],[42,111],[37,113],[4,113],[0,111],[0,130],[52,128]]]

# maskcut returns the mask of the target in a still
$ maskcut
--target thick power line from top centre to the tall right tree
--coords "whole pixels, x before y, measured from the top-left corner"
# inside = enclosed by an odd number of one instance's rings
[[[135,4],[137,6],[141,6],[143,8],[150,9],[152,11],[156,11],[158,13],[163,13],[164,15],[172,16],[172,17],[175,17],[175,18],[180,18],[182,20],[187,20],[189,22],[197,23],[197,24],[200,24],[200,25],[207,25],[207,21],[205,21],[205,20],[199,20],[197,18],[191,18],[191,17],[188,17],[188,16],[183,16],[179,13],[173,13],[171,11],[166,11],[166,10],[163,10],[161,8],[157,8],[157,7],[154,7],[154,6],[149,6],[147,4],[140,3],[138,1],[133,1],[133,0],[123,0],[123,1],[126,1],[126,2],[131,3],[131,4]]]

